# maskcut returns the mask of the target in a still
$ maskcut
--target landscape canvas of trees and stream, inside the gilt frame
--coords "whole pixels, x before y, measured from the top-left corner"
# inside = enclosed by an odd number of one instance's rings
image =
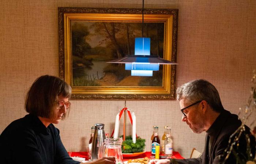
[[[163,58],[164,23],[144,23],[151,55]],[[71,21],[73,86],[162,86],[162,67],[152,77],[131,76],[124,64],[106,63],[134,55],[142,23]]]

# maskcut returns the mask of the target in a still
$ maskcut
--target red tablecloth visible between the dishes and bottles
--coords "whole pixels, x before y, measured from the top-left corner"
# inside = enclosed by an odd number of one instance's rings
[[[87,152],[68,152],[69,156],[71,157],[83,157],[86,160],[88,160],[88,153]],[[160,154],[161,155],[161,154]],[[144,157],[148,157],[150,158],[151,156],[151,152],[145,152],[139,156],[136,157],[126,157],[124,158],[124,161],[127,161],[129,159],[137,159],[137,158],[144,158]],[[184,159],[179,152],[173,152],[173,156],[171,158],[174,159]]]

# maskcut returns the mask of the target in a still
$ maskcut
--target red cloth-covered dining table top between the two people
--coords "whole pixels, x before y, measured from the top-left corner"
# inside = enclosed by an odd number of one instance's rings
[[[70,157],[82,157],[88,160],[88,152],[68,152],[68,154]],[[160,153],[160,157],[161,156],[164,156],[164,154]],[[151,156],[151,152],[142,152],[138,154],[134,154],[134,153],[124,154],[123,161],[128,161],[129,159],[145,158],[145,157],[148,157],[149,159],[154,159],[154,157]],[[184,157],[182,157],[179,152],[173,152],[173,155],[170,158],[184,159]]]

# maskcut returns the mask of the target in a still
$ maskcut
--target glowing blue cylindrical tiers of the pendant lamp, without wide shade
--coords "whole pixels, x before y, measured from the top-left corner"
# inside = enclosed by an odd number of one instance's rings
[[[135,38],[135,55],[150,55],[150,38]],[[131,70],[132,76],[153,76],[159,65],[150,64],[148,58],[136,58],[134,63],[125,63],[125,70]]]

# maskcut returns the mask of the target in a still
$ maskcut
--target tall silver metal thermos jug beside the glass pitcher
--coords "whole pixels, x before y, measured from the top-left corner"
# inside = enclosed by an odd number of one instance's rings
[[[93,142],[91,147],[91,160],[97,160],[102,155],[102,144],[104,142],[104,139],[106,138],[105,132],[104,132],[104,124],[95,124],[94,125],[95,130],[93,134]]]

